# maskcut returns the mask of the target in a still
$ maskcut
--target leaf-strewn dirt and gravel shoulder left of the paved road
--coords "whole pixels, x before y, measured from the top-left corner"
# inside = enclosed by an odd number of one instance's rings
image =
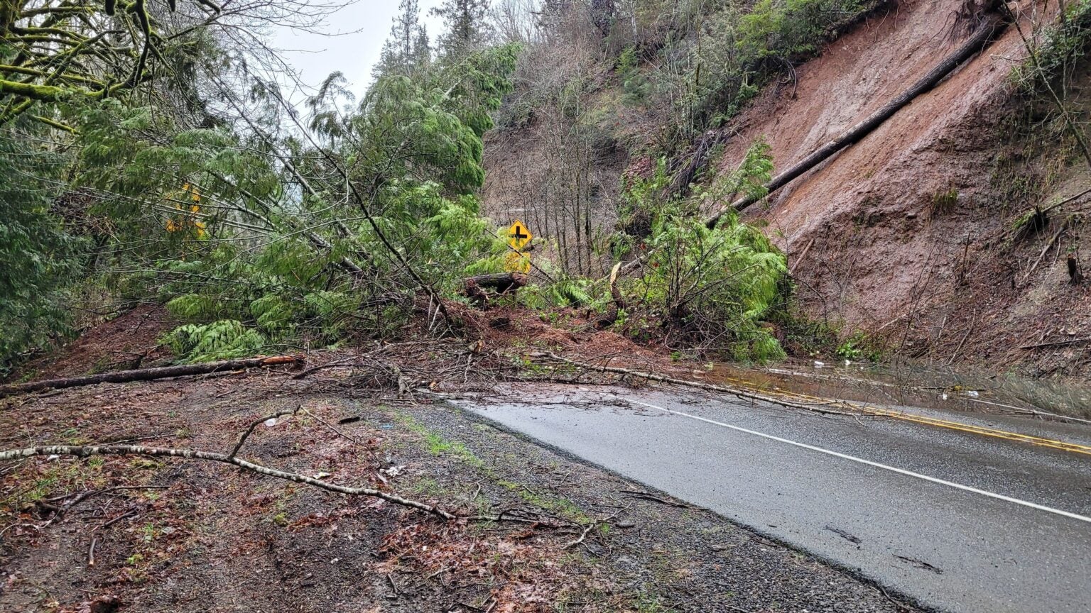
[[[444,522],[221,465],[39,457],[0,466],[0,610],[899,610],[804,554],[710,513],[626,497],[644,489],[457,410],[323,392],[332,384],[243,373],[11,398],[0,447],[139,440],[226,450],[255,417],[301,405],[314,417],[259,426],[242,455],[540,522]],[[65,496],[99,490],[55,515]],[[575,525],[607,517],[566,546]]]

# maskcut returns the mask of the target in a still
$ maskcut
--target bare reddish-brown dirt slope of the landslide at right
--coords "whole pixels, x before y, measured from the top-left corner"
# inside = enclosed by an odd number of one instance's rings
[[[762,135],[786,167],[863,119],[959,45],[959,5],[901,3],[831,44],[799,69],[796,83],[766,91],[744,113],[724,168]],[[1009,75],[1021,57],[1009,28],[865,140],[748,212],[768,220],[798,276],[817,290],[803,289],[812,313],[939,363],[1086,370],[1079,342],[1020,349],[1081,338],[1089,304],[1082,287],[1067,285],[1060,243],[1033,272],[1046,237],[1000,249],[1026,209],[1004,196],[1009,178],[999,168],[1015,105]],[[1068,172],[1042,204],[1086,189]],[[1078,233],[1066,238],[1078,250]]]

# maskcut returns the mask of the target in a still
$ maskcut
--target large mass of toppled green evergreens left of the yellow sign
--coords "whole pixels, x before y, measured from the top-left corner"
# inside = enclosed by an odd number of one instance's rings
[[[254,135],[173,130],[116,100],[80,109],[79,181],[103,194],[111,239],[139,245],[112,254],[127,272],[109,285],[185,321],[171,344],[189,360],[398,333],[417,278],[454,296],[467,271],[499,268],[503,243],[472,192],[518,50],[382,74],[355,111],[333,112],[334,75],[309,103],[319,146],[254,123]]]

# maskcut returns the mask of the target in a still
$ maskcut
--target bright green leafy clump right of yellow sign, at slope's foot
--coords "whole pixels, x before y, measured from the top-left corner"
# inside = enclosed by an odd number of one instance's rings
[[[753,190],[771,171],[768,146],[759,141],[739,170],[717,184],[726,193]],[[707,228],[698,205],[714,192],[659,202],[664,178],[660,164],[652,178],[634,182],[627,194],[630,205],[648,212],[651,219],[650,236],[636,249],[645,254],[646,272],[626,287],[626,295],[643,302],[647,312],[630,325],[636,333],[652,334],[658,324],[671,345],[727,351],[739,360],[782,358],[783,350],[762,322],[779,306],[784,255],[735,215]]]

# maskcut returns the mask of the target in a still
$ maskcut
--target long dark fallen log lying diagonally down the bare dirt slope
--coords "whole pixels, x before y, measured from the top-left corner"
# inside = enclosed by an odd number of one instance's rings
[[[947,75],[954,72],[955,69],[984,49],[985,46],[996,39],[1007,28],[1007,22],[1002,15],[991,14],[985,17],[978,29],[974,31],[973,35],[971,35],[961,47],[955,50],[951,55],[947,56],[944,61],[939,62],[935,68],[928,71],[927,74],[921,77],[909,89],[902,92],[901,95],[890,100],[886,106],[867,116],[867,118],[860,123],[849,128],[832,141],[829,141],[825,145],[818,147],[818,149],[807,157],[774,177],[768,183],[765,184],[768,193],[772,193],[780,188],[783,188],[804,172],[832,157],[834,154],[863,140],[864,136],[871,134],[876,128],[882,125],[883,122],[894,117],[895,113],[912,103],[918,96],[931,91]],[[742,211],[759,200],[762,199],[743,196],[731,203],[730,208]],[[716,224],[719,223],[720,218],[723,217],[727,211],[728,209],[721,209],[705,221],[705,225],[709,229],[715,228]]]

